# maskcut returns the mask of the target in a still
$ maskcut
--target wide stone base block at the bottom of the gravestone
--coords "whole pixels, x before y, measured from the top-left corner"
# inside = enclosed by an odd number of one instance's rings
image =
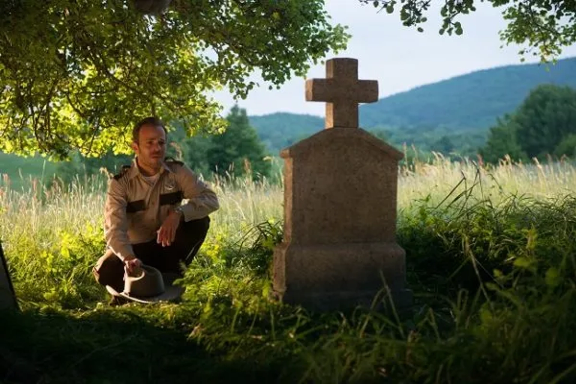
[[[405,252],[391,242],[294,245],[274,252],[274,293],[282,302],[306,309],[353,310],[376,307],[386,298],[404,311],[412,304],[406,289]],[[289,283],[287,283],[289,282]]]

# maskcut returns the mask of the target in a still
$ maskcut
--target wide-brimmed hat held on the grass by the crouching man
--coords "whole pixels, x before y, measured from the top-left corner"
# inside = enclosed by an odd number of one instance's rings
[[[113,296],[120,296],[139,303],[169,302],[179,299],[185,288],[173,285],[179,277],[176,273],[162,273],[150,265],[142,265],[128,275],[124,273],[124,290],[116,291],[111,286],[106,290]]]

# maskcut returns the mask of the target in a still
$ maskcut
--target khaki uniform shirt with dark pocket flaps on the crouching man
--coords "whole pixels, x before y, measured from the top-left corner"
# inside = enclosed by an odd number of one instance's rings
[[[121,259],[134,255],[132,244],[155,239],[170,210],[183,199],[187,199],[182,205],[185,221],[201,219],[219,208],[216,194],[183,163],[166,161],[150,185],[134,159],[108,184],[104,207],[108,248]]]

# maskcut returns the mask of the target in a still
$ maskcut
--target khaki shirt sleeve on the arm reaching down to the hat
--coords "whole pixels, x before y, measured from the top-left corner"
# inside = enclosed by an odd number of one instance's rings
[[[126,216],[127,193],[120,181],[112,178],[108,184],[104,206],[104,238],[106,245],[121,260],[134,255],[128,238],[128,219]]]

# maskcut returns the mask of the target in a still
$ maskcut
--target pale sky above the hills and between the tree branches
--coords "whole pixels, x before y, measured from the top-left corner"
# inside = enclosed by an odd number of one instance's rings
[[[331,52],[326,59],[358,59],[360,79],[378,81],[378,97],[404,92],[419,85],[438,82],[476,70],[521,64],[519,45],[504,46],[498,32],[505,29],[503,8],[493,8],[490,3],[478,2],[476,12],[458,19],[463,25],[463,35],[438,34],[441,26],[439,1],[433,1],[424,32],[401,24],[397,10],[388,14],[369,3],[362,5],[358,0],[326,0],[325,9],[332,17],[332,24],[348,26],[352,35],[345,51]],[[576,56],[576,46],[564,48],[559,58]],[[526,63],[538,62],[531,55]],[[543,69],[544,70],[544,69]],[[552,69],[553,70],[553,69]],[[325,66],[318,64],[308,71],[306,78],[324,78]],[[238,106],[245,108],[248,115],[267,115],[274,112],[307,113],[323,116],[324,102],[305,101],[305,79],[294,77],[281,89],[268,90],[262,79],[245,100]],[[235,101],[227,92],[217,92],[214,98],[224,106],[224,115]]]

